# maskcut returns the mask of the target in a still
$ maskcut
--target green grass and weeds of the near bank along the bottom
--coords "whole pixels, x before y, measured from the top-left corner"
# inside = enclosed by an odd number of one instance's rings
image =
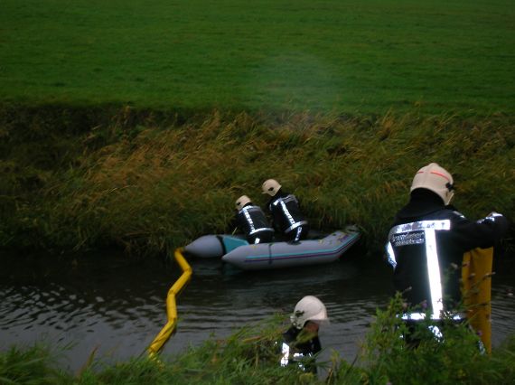
[[[505,384],[515,381],[515,339],[481,354],[477,337],[466,326],[441,327],[437,342],[426,326],[417,331],[416,350],[400,338],[403,326],[395,314],[399,298],[378,311],[360,354],[348,362],[332,352],[329,362],[317,362],[320,376],[281,368],[276,341],[282,330],[277,316],[267,323],[248,325],[226,340],[210,339],[177,357],[163,357],[164,365],[145,358],[104,366],[93,359],[77,373],[63,371],[59,352],[43,345],[13,347],[0,353],[0,381],[5,384]],[[171,360],[169,360],[171,358]]]

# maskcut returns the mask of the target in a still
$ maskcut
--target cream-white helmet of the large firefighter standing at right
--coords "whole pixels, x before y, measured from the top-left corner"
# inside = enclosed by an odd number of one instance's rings
[[[445,204],[449,204],[454,196],[453,175],[438,164],[427,164],[417,171],[411,183],[412,192],[415,189],[427,189],[438,194]]]

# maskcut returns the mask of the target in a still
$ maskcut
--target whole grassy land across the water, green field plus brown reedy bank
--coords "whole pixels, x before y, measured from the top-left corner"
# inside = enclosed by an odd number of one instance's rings
[[[276,177],[314,227],[355,222],[377,249],[430,161],[469,216],[513,216],[510,1],[2,11],[0,246],[155,253],[228,230]]]

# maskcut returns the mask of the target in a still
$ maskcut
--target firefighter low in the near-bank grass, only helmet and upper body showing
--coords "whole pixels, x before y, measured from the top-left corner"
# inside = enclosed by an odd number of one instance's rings
[[[304,296],[290,315],[292,326],[283,333],[281,366],[296,364],[303,371],[316,373],[316,353],[322,350],[318,331],[326,321],[327,310],[316,296]]]

